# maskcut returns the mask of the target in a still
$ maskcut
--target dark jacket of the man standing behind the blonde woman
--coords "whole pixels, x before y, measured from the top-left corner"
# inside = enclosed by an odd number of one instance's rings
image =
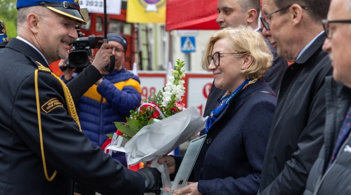
[[[259,31],[262,33],[262,29],[259,29]],[[280,83],[282,82],[284,72],[288,65],[285,59],[279,58],[277,54],[277,49],[271,45],[269,39],[266,39],[266,41],[271,49],[274,59],[272,62],[272,66],[264,75],[264,80],[273,89],[274,93],[278,94]],[[227,90],[218,89],[216,86],[214,86],[214,82],[212,82],[211,90],[210,93],[208,93],[208,98],[206,101],[204,116],[210,115],[212,110],[216,108],[219,99],[224,95],[226,91]]]

